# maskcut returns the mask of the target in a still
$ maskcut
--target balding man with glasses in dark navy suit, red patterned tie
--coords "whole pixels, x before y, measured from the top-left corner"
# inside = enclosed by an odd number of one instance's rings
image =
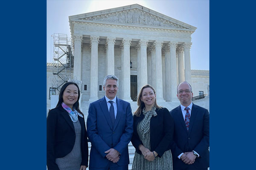
[[[192,103],[188,82],[177,86],[180,106],[170,111],[174,119],[172,159],[174,170],[207,170],[209,167],[209,112]]]

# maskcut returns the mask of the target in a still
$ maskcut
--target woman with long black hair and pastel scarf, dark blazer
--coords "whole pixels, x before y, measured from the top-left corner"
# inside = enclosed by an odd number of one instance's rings
[[[57,106],[47,116],[48,170],[85,170],[88,167],[87,132],[79,110],[76,83],[61,87]]]

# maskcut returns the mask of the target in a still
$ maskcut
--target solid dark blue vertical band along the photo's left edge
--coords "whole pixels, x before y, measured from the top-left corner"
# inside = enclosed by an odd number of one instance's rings
[[[46,170],[46,0],[1,7],[0,169]]]

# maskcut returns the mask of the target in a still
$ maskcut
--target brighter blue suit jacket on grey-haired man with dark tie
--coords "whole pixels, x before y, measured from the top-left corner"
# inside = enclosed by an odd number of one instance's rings
[[[129,164],[128,143],[133,134],[131,105],[116,97],[117,113],[112,126],[105,96],[90,103],[87,117],[87,136],[91,142],[90,167],[106,167],[109,160],[105,151],[114,148],[121,154],[117,164]]]

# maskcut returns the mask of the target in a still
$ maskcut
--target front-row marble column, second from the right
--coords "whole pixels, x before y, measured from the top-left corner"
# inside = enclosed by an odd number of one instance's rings
[[[177,62],[176,46],[177,42],[169,42],[171,59],[171,101],[177,100]]]

